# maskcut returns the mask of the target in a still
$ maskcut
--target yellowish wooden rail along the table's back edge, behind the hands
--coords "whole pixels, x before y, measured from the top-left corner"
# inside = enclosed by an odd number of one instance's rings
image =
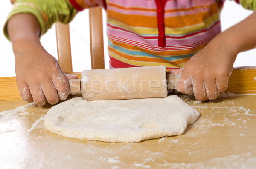
[[[81,78],[81,72],[68,72]],[[256,93],[256,68],[234,69],[225,92],[236,94]],[[0,77],[0,100],[21,99],[15,77]]]

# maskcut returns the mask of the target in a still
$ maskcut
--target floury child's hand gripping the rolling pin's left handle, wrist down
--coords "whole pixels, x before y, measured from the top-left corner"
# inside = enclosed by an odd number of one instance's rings
[[[16,81],[20,96],[38,105],[65,100],[69,95],[67,80],[77,78],[61,71],[58,61],[37,44],[24,42],[15,45]]]

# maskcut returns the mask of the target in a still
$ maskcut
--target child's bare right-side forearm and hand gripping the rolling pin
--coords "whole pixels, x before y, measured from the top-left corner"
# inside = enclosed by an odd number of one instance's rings
[[[228,86],[239,52],[256,47],[256,12],[215,37],[184,66],[177,90],[197,100],[213,100]]]

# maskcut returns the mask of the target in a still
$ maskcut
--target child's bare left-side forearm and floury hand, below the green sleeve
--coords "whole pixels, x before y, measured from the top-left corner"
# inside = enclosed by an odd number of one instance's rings
[[[16,81],[20,96],[44,105],[55,104],[69,95],[67,80],[77,78],[61,71],[57,60],[41,46],[40,26],[31,14],[16,14],[7,25],[15,55]]]

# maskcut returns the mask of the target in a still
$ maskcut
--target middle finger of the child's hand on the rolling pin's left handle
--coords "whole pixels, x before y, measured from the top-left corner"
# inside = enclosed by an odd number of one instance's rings
[[[57,90],[52,83],[52,79],[45,80],[44,83],[41,84],[41,88],[44,92],[44,95],[50,104],[56,104],[59,101]]]

